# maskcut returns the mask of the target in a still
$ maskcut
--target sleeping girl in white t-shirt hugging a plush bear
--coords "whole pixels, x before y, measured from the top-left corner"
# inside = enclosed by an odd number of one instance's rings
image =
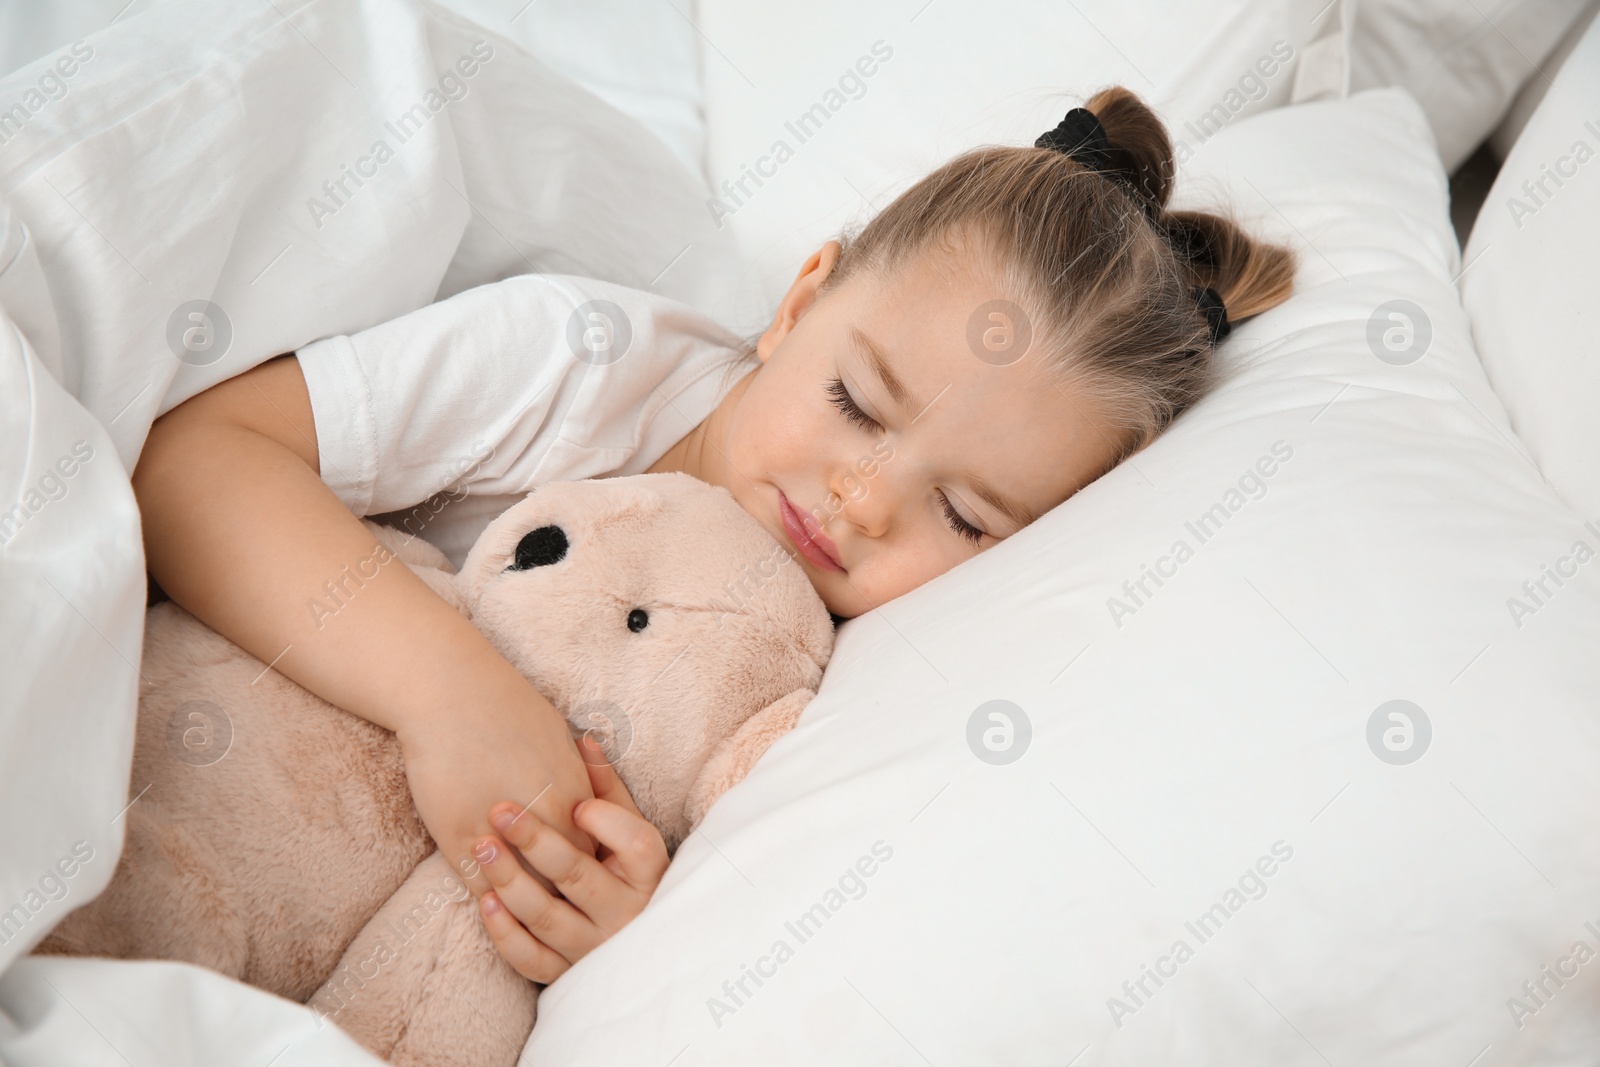
[[[395,733],[496,947],[554,981],[650,899],[661,837],[421,579],[338,584],[373,549],[357,517],[413,509],[402,525],[451,555],[541,483],[683,470],[726,488],[837,619],[872,611],[1144,448],[1210,389],[1229,323],[1288,298],[1288,250],[1168,211],[1171,182],[1158,117],[1107,88],[822,245],[757,339],[523,275],[317,341],[157,421],[133,475],[150,573]],[[459,499],[418,509],[442,494]]]

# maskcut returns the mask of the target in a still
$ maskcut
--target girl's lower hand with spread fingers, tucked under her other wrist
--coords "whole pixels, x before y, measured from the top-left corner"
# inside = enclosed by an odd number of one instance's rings
[[[478,910],[494,947],[518,974],[544,984],[638,915],[667,870],[661,832],[638,814],[600,747],[589,737],[578,744],[595,798],[573,809],[573,824],[600,841],[600,857],[573,848],[514,803],[490,809],[490,822],[501,837],[485,837],[474,848],[493,885],[478,899]],[[506,841],[555,883],[562,896],[523,870]]]

